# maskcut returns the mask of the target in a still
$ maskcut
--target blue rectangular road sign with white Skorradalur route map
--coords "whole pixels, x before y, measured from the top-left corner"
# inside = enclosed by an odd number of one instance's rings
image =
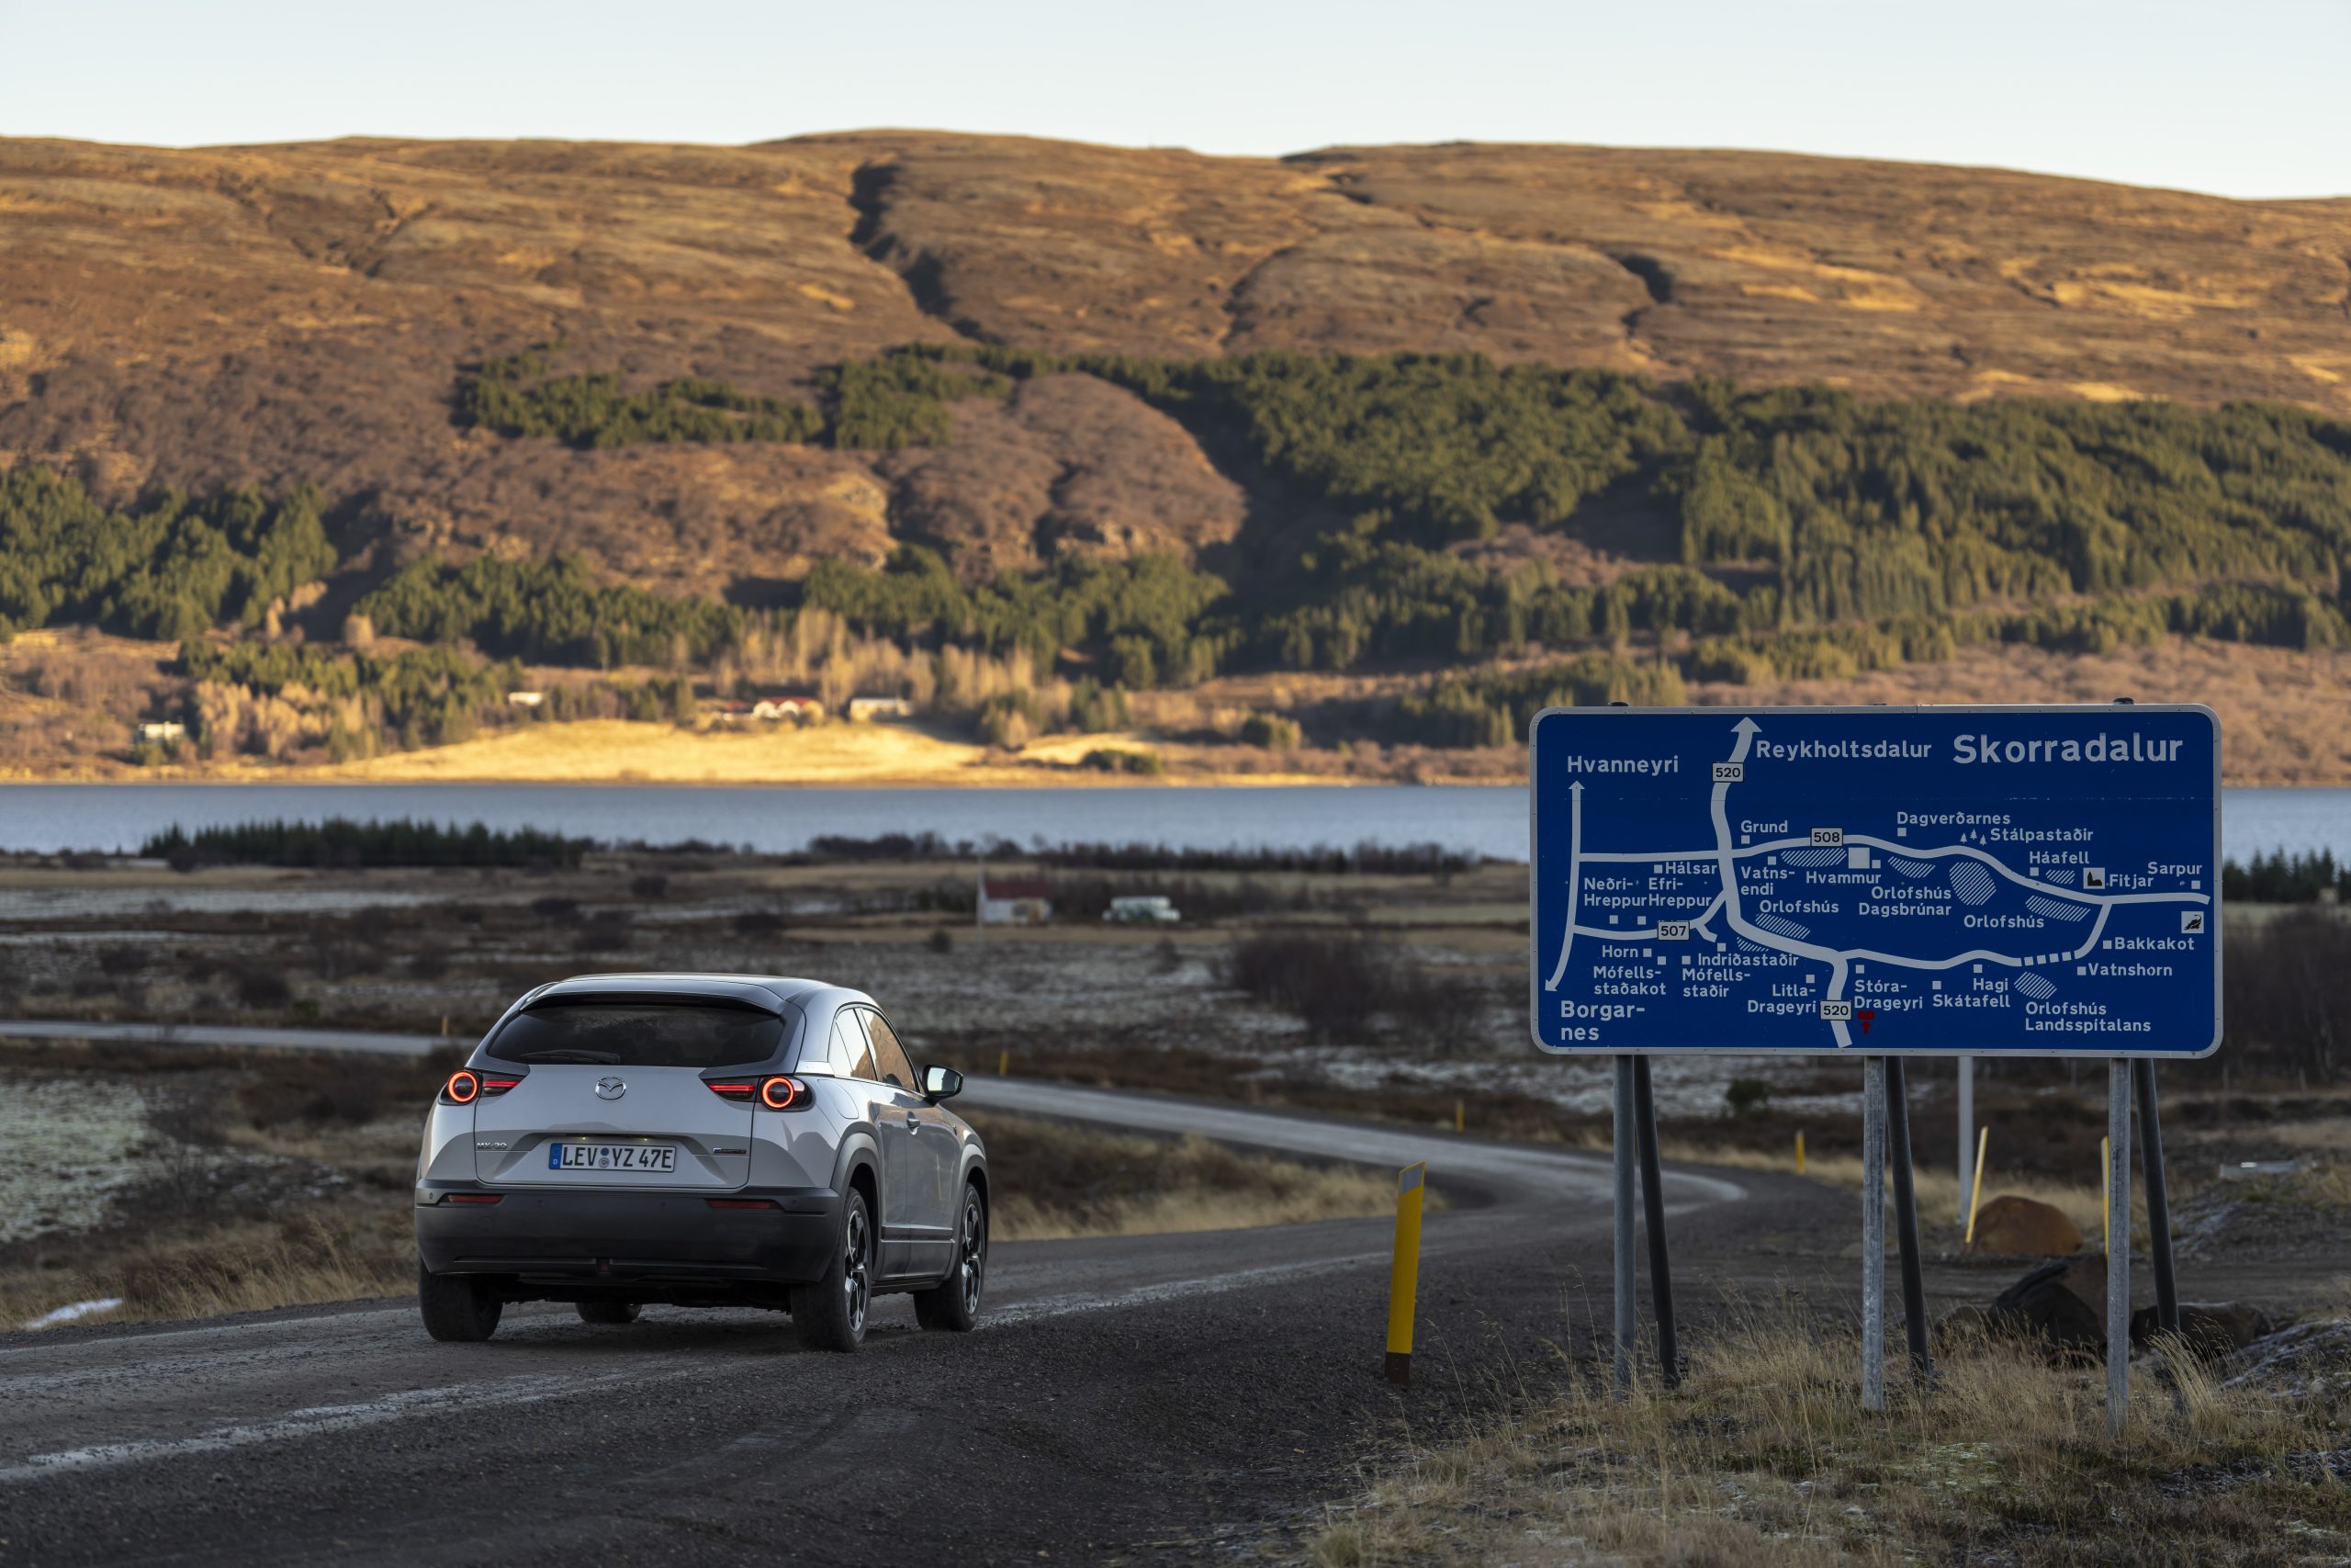
[[[1545,1051],[2205,1056],[2210,708],[1549,708]]]

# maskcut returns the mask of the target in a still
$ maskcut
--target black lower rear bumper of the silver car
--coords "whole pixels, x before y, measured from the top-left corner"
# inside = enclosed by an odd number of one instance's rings
[[[444,1201],[454,1192],[496,1192],[498,1201]],[[712,1197],[776,1206],[712,1208]],[[418,1182],[416,1253],[435,1274],[508,1274],[520,1286],[569,1286],[581,1295],[757,1293],[820,1279],[839,1239],[839,1213],[842,1197],[830,1187],[712,1194]]]

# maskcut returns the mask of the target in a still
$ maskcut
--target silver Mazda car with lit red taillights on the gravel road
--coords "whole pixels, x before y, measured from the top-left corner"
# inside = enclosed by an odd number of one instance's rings
[[[442,1084],[416,1159],[435,1340],[505,1302],[773,1307],[856,1349],[872,1298],[966,1331],[987,1152],[865,992],[771,976],[581,976],[510,1006]]]

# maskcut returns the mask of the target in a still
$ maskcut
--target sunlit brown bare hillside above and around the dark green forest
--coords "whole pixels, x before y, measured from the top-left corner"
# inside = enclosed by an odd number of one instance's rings
[[[115,496],[310,480],[400,550],[588,548],[705,590],[893,538],[966,571],[1190,550],[1262,505],[1091,378],[966,404],[955,447],[893,456],[585,454],[451,423],[458,362],[555,334],[762,393],[964,334],[2346,414],[2351,205],[1603,148],[0,141],[0,461]]]

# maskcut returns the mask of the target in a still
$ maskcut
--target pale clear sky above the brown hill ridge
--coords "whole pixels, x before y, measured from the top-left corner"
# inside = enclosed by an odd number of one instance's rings
[[[0,0],[0,134],[1596,141],[2351,195],[2351,0]]]

